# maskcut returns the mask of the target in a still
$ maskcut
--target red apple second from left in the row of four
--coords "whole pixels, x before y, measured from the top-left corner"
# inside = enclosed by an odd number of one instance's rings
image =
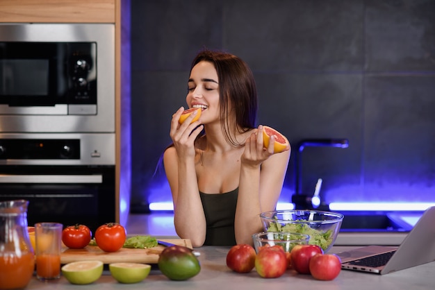
[[[262,248],[255,258],[255,269],[262,278],[278,278],[287,266],[286,253],[280,246]]]

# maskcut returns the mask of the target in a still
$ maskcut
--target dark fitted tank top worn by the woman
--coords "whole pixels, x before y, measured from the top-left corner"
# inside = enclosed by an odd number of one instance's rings
[[[204,246],[235,245],[234,217],[238,188],[224,194],[204,194],[199,191],[199,196],[201,196],[207,223]]]

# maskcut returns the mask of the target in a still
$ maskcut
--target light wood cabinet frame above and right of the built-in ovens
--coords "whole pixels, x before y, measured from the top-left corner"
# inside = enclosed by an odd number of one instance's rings
[[[1,0],[1,23],[72,23],[72,24],[114,24],[115,25],[115,133],[116,133],[116,221],[126,223],[129,213],[129,185],[120,182],[121,172],[129,171],[126,162],[121,161],[121,151],[129,153],[129,140],[121,138],[122,79],[121,79],[121,6],[122,0]],[[125,68],[124,68],[125,69]],[[126,94],[125,94],[126,95]],[[124,102],[125,103],[125,102]],[[124,109],[126,110],[126,109]],[[129,182],[124,179],[123,182]],[[120,194],[120,187],[125,188]],[[120,205],[122,204],[122,206]],[[121,208],[123,210],[121,210]]]

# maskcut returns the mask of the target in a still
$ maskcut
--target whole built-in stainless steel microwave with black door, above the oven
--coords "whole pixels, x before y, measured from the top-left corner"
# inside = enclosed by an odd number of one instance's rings
[[[0,133],[115,132],[114,24],[0,24]]]

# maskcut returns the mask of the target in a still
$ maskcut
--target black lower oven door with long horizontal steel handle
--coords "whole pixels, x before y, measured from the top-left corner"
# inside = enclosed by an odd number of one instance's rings
[[[25,199],[28,223],[115,222],[115,166],[0,165],[0,201]]]

